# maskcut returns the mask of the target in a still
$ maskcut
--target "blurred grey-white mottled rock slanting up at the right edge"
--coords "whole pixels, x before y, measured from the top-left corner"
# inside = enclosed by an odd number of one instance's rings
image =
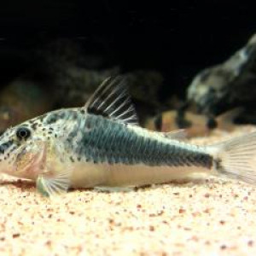
[[[199,73],[188,88],[198,112],[217,114],[242,106],[255,110],[256,34],[229,60]]]

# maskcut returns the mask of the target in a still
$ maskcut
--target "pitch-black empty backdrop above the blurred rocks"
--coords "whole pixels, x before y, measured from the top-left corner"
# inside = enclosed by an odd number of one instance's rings
[[[71,38],[124,71],[160,71],[163,95],[184,95],[195,73],[224,61],[255,27],[253,1],[9,0],[0,6],[0,75],[26,70],[38,44]]]

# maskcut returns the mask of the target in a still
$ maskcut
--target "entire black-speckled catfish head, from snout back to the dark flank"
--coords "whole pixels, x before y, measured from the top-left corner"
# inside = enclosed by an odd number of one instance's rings
[[[5,131],[0,137],[0,172],[36,179],[44,172],[52,148],[60,148],[57,138],[67,130],[69,120],[60,113],[46,113]]]

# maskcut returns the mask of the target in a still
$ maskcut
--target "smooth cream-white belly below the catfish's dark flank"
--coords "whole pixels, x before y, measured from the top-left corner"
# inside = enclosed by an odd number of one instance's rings
[[[79,163],[73,170],[71,185],[74,188],[137,186],[166,183],[189,177],[197,172],[210,173],[211,171],[195,166],[129,166]]]

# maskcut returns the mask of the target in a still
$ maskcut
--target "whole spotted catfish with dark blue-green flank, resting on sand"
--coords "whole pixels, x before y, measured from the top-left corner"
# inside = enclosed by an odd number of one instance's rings
[[[32,179],[43,195],[68,188],[166,183],[197,172],[256,183],[256,132],[209,146],[183,131],[137,125],[125,80],[106,79],[82,108],[45,113],[0,137],[0,172]]]

